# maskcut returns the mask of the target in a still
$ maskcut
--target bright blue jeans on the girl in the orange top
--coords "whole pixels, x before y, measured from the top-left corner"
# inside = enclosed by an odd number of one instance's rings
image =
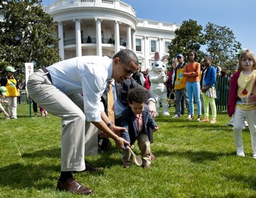
[[[188,103],[190,108],[190,114],[194,115],[194,98],[195,96],[196,105],[198,106],[198,116],[202,115],[202,106],[200,100],[200,84],[199,82],[186,82],[186,92],[188,93]]]

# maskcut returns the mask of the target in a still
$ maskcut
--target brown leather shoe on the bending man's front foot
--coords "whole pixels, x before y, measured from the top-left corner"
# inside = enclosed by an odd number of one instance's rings
[[[58,180],[57,187],[60,191],[69,191],[80,195],[90,195],[94,193],[91,188],[85,187],[84,185],[76,182],[74,178],[69,178],[66,182],[63,183]]]

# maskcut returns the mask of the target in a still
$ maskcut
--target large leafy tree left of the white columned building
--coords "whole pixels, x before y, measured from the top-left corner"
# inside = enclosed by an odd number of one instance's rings
[[[60,60],[56,22],[44,12],[41,0],[0,1],[0,61],[14,67],[33,62],[36,68]]]

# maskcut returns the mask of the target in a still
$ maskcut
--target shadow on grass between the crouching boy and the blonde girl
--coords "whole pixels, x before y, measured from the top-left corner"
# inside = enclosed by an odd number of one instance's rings
[[[208,151],[192,151],[192,150],[184,150],[184,151],[175,151],[168,152],[165,150],[156,150],[154,151],[156,156],[178,156],[180,158],[187,158],[191,162],[203,163],[205,161],[216,161],[218,158],[223,156],[233,156],[234,152],[208,152]]]

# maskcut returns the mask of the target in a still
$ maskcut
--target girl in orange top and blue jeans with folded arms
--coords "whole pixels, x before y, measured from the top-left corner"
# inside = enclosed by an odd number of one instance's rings
[[[194,119],[194,98],[196,99],[196,104],[198,107],[198,119],[197,121],[202,121],[202,106],[200,100],[200,73],[201,66],[198,63],[198,57],[196,51],[190,50],[188,53],[189,63],[185,65],[183,76],[186,77],[186,91],[188,93],[188,103],[190,108],[190,120]]]

